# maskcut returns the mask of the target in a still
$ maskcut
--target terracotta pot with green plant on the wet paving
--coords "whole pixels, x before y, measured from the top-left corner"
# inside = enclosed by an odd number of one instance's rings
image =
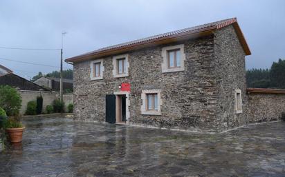
[[[6,118],[4,127],[11,143],[21,142],[25,127],[21,124],[19,116]]]

